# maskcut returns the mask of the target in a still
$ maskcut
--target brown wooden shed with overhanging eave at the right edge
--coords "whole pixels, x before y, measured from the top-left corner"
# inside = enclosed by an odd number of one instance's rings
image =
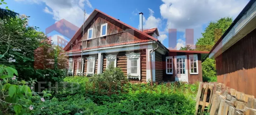
[[[216,60],[217,81],[256,96],[256,2],[249,1],[216,42],[209,57]]]

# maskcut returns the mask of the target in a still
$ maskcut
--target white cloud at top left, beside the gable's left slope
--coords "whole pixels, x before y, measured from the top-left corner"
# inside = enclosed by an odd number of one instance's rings
[[[89,7],[91,3],[88,0],[15,0],[15,1],[27,1],[31,4],[33,3],[44,3],[44,12],[53,15],[53,19],[59,21],[65,19],[72,24],[80,27],[83,24],[83,6],[84,2]],[[90,13],[86,13],[86,18],[89,17]]]

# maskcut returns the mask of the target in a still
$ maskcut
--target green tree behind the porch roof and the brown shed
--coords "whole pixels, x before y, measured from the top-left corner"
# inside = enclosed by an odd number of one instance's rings
[[[202,33],[202,37],[197,39],[197,51],[210,51],[213,45],[220,39],[222,34],[229,28],[232,23],[232,18],[220,18],[219,20],[211,21]],[[202,63],[202,76],[204,81],[216,82],[216,63],[214,59],[207,58]]]

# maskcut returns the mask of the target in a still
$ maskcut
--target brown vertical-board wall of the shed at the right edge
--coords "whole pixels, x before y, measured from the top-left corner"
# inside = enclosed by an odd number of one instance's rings
[[[256,96],[256,29],[216,58],[217,81]]]

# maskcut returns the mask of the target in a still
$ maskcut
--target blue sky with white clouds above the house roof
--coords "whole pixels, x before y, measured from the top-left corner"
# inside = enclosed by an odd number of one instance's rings
[[[139,25],[138,13],[143,12],[144,28],[157,27],[159,40],[165,47],[173,48],[169,46],[174,40],[168,40],[168,29],[177,29],[175,49],[179,49],[186,44],[185,29],[194,29],[194,34],[191,36],[194,37],[195,44],[210,21],[227,16],[234,19],[248,0],[5,0],[5,2],[7,5],[0,7],[8,6],[19,14],[30,16],[29,25],[37,26],[44,32],[47,27],[61,19],[80,27],[83,22],[83,9],[86,9],[87,17],[97,8],[135,28]],[[62,36],[56,31],[47,35],[53,38]]]

